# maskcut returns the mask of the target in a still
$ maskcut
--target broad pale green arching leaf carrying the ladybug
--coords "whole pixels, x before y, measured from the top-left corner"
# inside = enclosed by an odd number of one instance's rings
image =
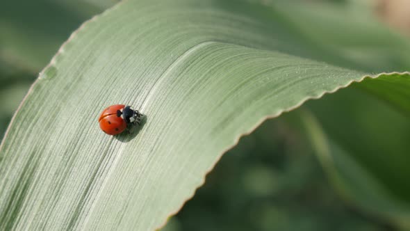
[[[154,230],[242,134],[370,76],[306,59],[315,50],[261,10],[129,0],[85,24],[3,141],[0,229]],[[147,115],[138,134],[99,129],[119,103]]]

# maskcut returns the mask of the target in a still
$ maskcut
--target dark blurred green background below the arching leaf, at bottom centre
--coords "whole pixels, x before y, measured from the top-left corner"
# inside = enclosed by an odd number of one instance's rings
[[[395,230],[334,191],[289,116],[224,154],[164,230]]]

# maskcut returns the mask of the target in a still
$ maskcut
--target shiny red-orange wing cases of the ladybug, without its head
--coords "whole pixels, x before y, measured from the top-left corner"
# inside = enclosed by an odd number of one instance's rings
[[[115,104],[104,109],[99,116],[99,127],[108,135],[116,135],[124,132],[126,122],[121,116],[117,116],[117,111],[124,109],[124,104]]]

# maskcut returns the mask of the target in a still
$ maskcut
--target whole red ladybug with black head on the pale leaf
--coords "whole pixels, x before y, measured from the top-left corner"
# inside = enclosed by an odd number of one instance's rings
[[[108,106],[98,118],[99,127],[108,135],[116,135],[133,125],[140,125],[142,114],[131,106],[115,104]]]

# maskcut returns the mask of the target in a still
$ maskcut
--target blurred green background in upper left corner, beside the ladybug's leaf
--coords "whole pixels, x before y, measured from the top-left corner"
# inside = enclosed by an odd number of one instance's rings
[[[0,138],[24,93],[69,33],[86,18],[113,3],[109,0],[3,3],[0,8]]]

